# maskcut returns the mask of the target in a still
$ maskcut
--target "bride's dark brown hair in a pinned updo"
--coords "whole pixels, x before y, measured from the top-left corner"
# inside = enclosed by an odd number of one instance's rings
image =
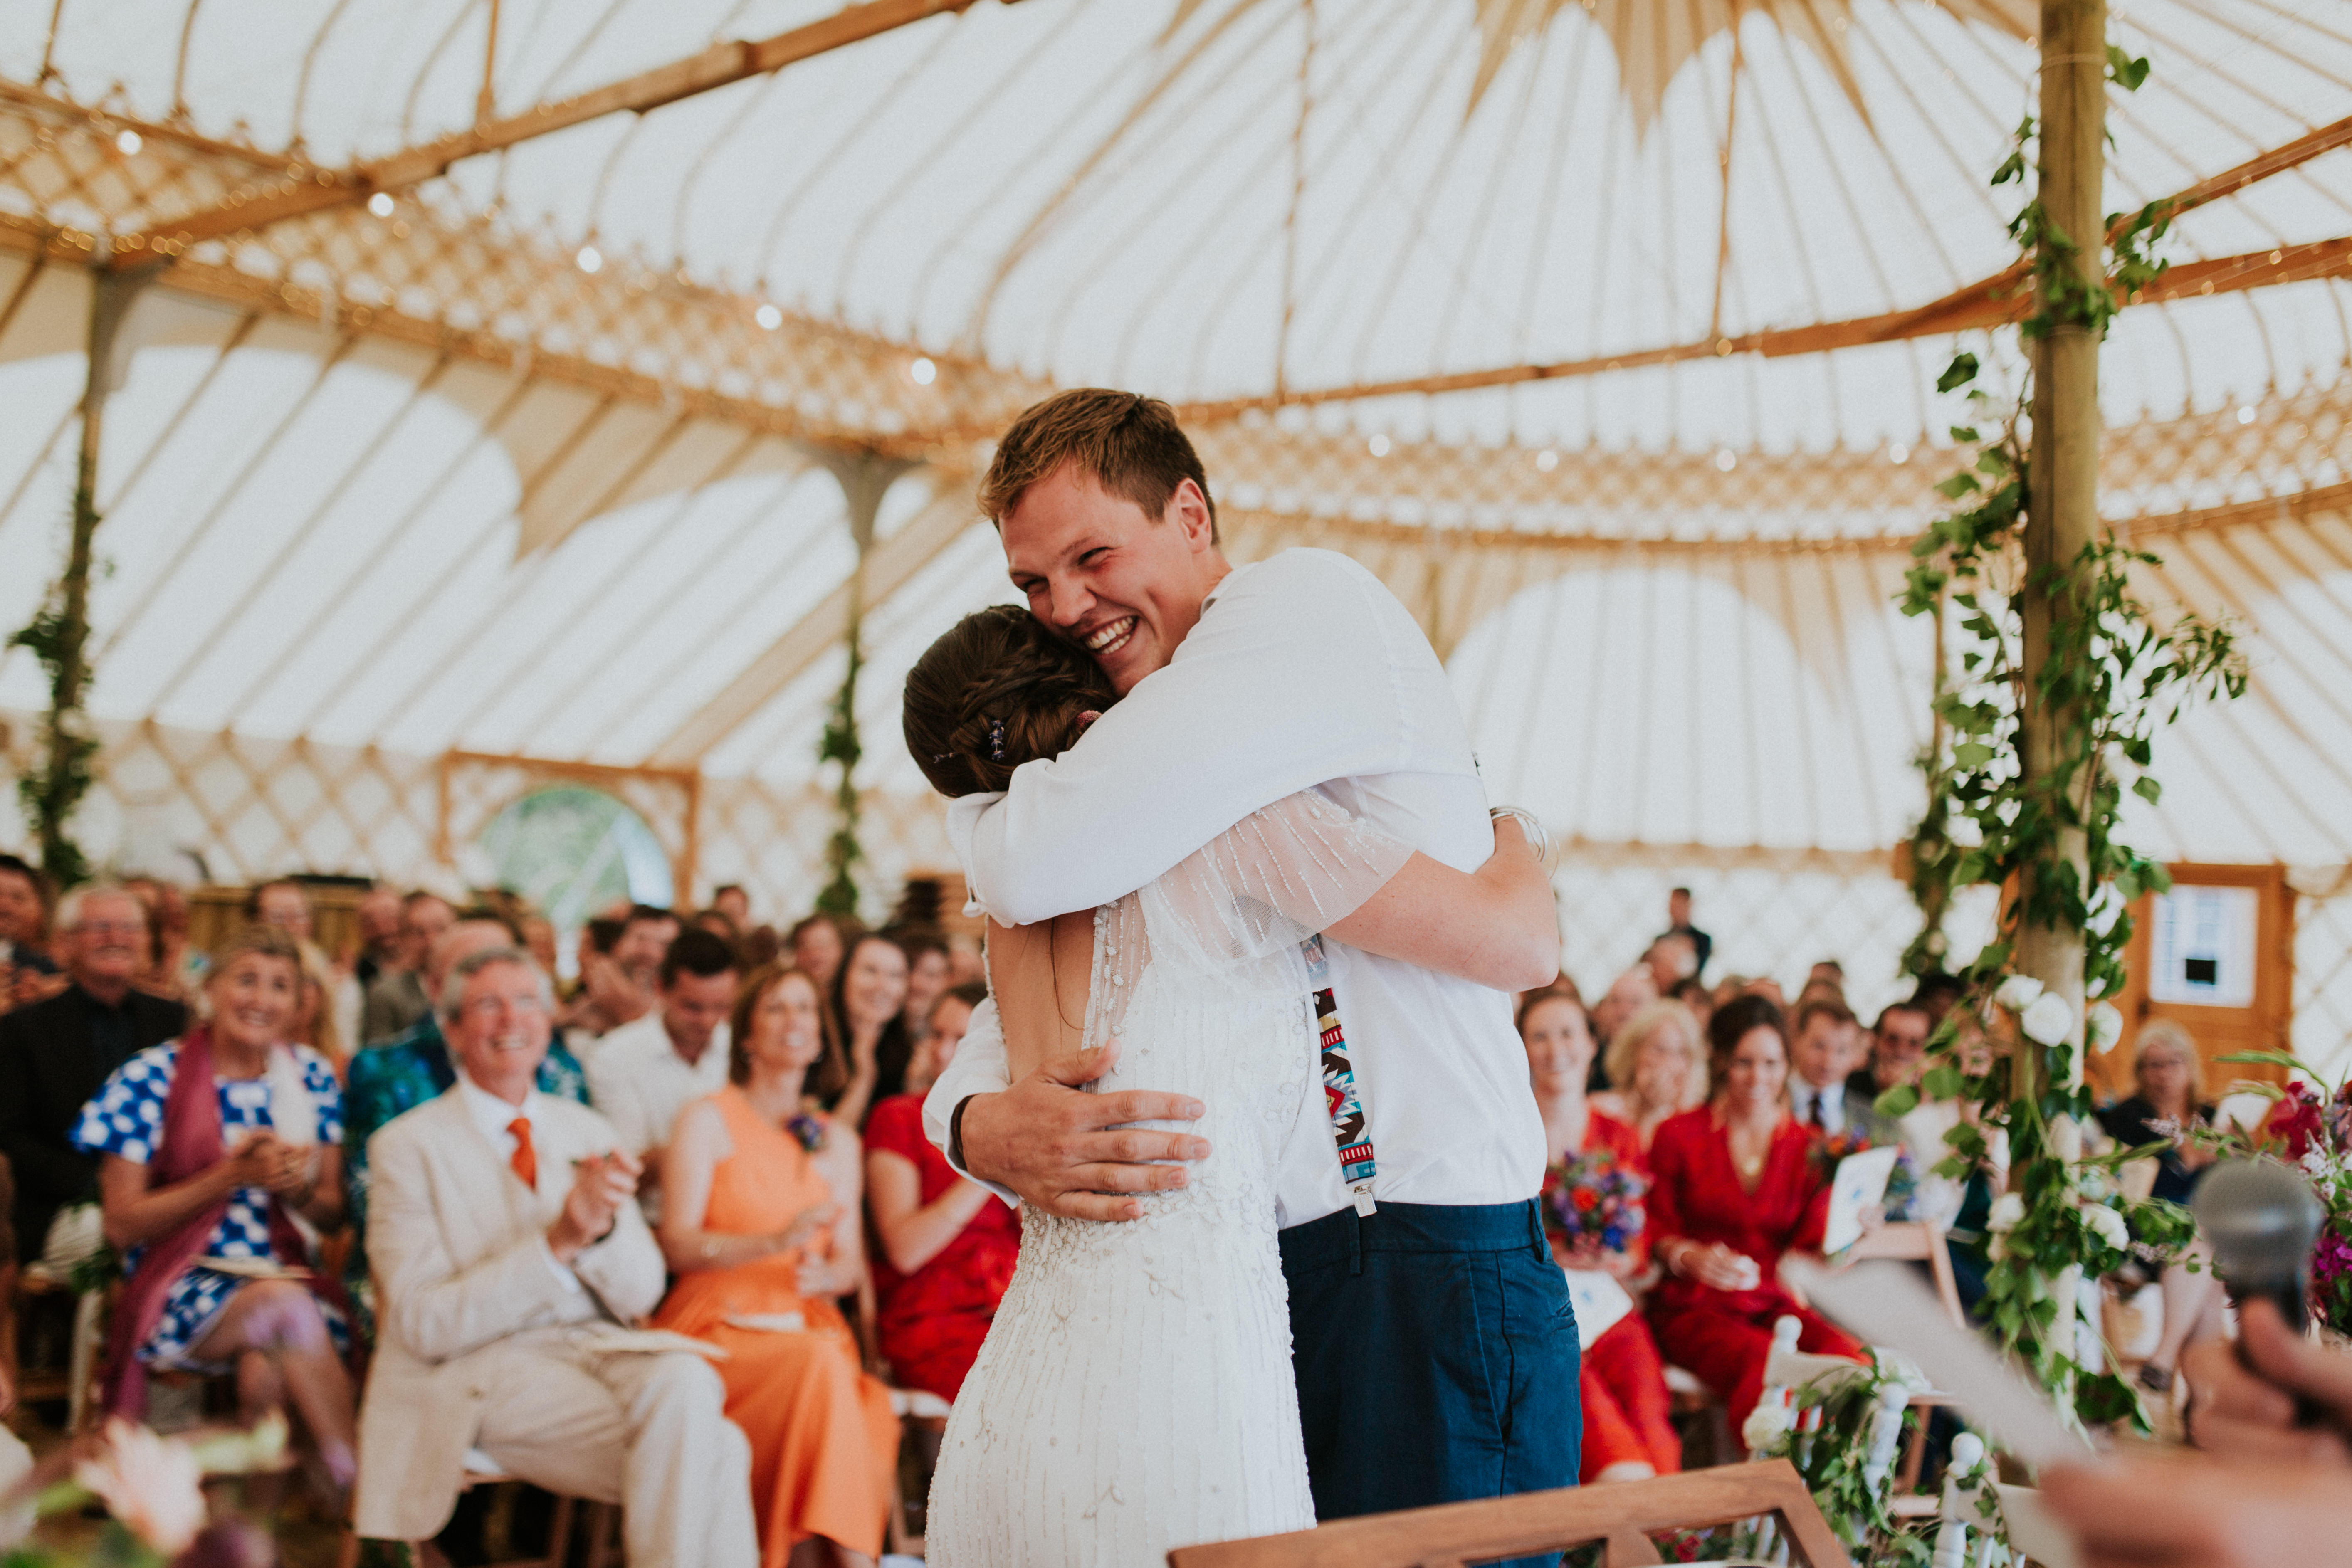
[[[1110,677],[1037,616],[993,604],[906,672],[906,750],[941,795],[1004,790],[1016,766],[1077,741],[1077,715],[1117,701]]]

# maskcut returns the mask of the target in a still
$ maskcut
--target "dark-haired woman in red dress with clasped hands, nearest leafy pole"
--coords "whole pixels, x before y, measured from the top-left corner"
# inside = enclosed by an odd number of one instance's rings
[[[1788,1025],[1762,997],[1736,997],[1708,1025],[1715,1098],[1649,1145],[1651,1253],[1665,1279],[1649,1298],[1658,1349],[1722,1396],[1738,1432],[1764,1392],[1773,1324],[1804,1324],[1799,1349],[1860,1356],[1828,1319],[1780,1288],[1780,1258],[1818,1251],[1830,1175],[1813,1135],[1788,1114]]]

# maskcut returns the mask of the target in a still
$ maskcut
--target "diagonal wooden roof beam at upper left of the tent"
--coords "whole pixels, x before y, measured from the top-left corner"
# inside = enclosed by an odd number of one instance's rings
[[[637,75],[593,87],[569,99],[539,103],[520,115],[482,120],[461,132],[449,132],[435,141],[402,148],[388,158],[374,158],[348,169],[287,165],[282,174],[256,179],[214,207],[115,240],[113,266],[132,266],[158,254],[179,256],[202,240],[266,228],[329,207],[348,207],[365,202],[379,190],[405,190],[445,174],[466,158],[520,146],[604,115],[642,115],[663,103],[677,103],[715,87],[769,75],[771,71],[891,33],[927,16],[964,12],[971,5],[974,0],[863,0],[774,38],[715,42],[701,54],[640,71]]]

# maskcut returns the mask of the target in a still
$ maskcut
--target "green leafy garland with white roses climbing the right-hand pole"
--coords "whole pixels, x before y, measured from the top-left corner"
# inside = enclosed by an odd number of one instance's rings
[[[2107,61],[2107,78],[2124,89],[2147,78],[2145,59],[2110,47]],[[2034,136],[2034,120],[2025,118],[1994,186],[2025,179]],[[2025,202],[2009,233],[2025,249],[2042,306],[2023,322],[2023,336],[2032,341],[2058,327],[2103,336],[2117,299],[2164,273],[2166,263],[2150,247],[2169,223],[2161,202],[2129,221],[2110,221],[2114,261],[2107,287],[2098,287],[2077,280],[2074,240],[2056,230],[2039,200]],[[1938,637],[1952,637],[1959,649],[1955,677],[1936,691],[1943,741],[1922,757],[1929,809],[1912,837],[1912,893],[1924,919],[1905,959],[1922,973],[1936,966],[1943,910],[1964,886],[2004,889],[2002,917],[1994,940],[1959,971],[1964,1001],[1929,1046],[1922,1088],[1891,1091],[1879,1110],[1903,1114],[1922,1091],[1971,1103],[1976,1119],[1950,1133],[1952,1157],[1940,1166],[1947,1175],[1980,1168],[1992,1154],[1992,1133],[2006,1133],[2011,1192],[2002,1199],[1983,1316],[2046,1387],[2072,1399],[2082,1420],[2138,1422],[2129,1385],[2114,1373],[2093,1373],[2074,1338],[2058,1333],[2072,1314],[2060,1309],[2056,1286],[2112,1272],[2126,1248],[2171,1258],[2192,1227],[2171,1204],[2119,1197],[2114,1168],[2150,1150],[2070,1157],[2063,1128],[2091,1114],[2089,1091],[2072,1086],[2077,1020],[2065,999],[2016,976],[2011,959],[2027,926],[2072,931],[2084,943],[2084,994],[2098,999],[2122,990],[2129,905],[2143,891],[2169,886],[2161,865],[2117,837],[2126,771],[2133,795],[2159,799],[2161,788],[2147,771],[2157,729],[2192,701],[2244,693],[2246,663],[2223,623],[2183,614],[2159,625],[2131,588],[2131,569],[2152,567],[2157,557],[2119,543],[2112,531],[2070,562],[2027,571],[2020,416],[2030,400],[1999,402],[1978,376],[1976,355],[1964,353],[1936,383],[1938,393],[1966,395],[1969,423],[1952,425],[1952,440],[1969,463],[1936,487],[1957,510],[1912,545],[1915,564],[1900,597],[1910,616],[1936,614]],[[2051,616],[2049,649],[2030,679],[2027,588],[2065,607]],[[1957,614],[1950,630],[1940,625],[1945,604]],[[2037,776],[2020,769],[2027,710],[2070,715],[2056,766]],[[2063,851],[2072,832],[2084,837],[2086,867]],[[2091,1011],[2086,1032],[2100,1046],[2114,1044],[2122,1018],[2112,1004]]]

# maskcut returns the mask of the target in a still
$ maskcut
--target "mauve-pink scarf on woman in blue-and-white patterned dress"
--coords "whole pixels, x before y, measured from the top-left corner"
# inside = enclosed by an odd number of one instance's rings
[[[148,1190],[183,1182],[226,1157],[221,1098],[212,1081],[212,1030],[195,1025],[181,1037],[172,1065],[172,1088],[162,1098],[162,1138],[155,1145],[155,1159],[148,1161]],[[111,1415],[129,1415],[132,1420],[146,1415],[146,1363],[139,1359],[139,1347],[162,1321],[172,1284],[205,1255],[205,1244],[212,1241],[212,1229],[228,1213],[230,1197],[235,1194],[223,1194],[221,1201],[207,1204],[172,1234],[151,1241],[139,1267],[122,1281],[115,1321],[106,1335],[106,1410]],[[270,1255],[280,1262],[308,1258],[308,1244],[278,1199],[270,1199],[268,1215]],[[313,1295],[348,1314],[343,1288],[334,1279],[313,1272],[308,1284]]]

